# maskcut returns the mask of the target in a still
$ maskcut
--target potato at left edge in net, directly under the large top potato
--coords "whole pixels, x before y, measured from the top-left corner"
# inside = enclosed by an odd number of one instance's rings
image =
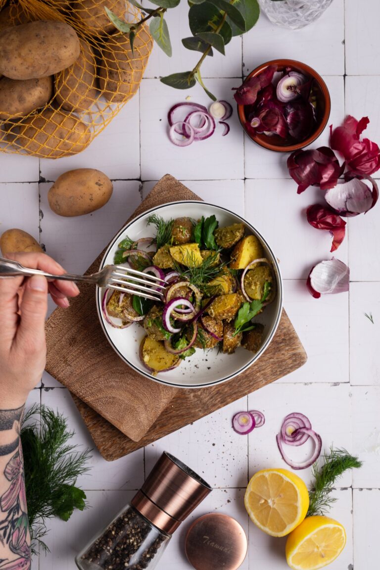
[[[51,76],[17,81],[3,77],[0,80],[0,119],[24,117],[35,109],[44,107],[53,95]]]

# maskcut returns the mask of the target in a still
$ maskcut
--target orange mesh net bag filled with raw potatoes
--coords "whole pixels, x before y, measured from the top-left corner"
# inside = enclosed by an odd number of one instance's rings
[[[1,152],[79,153],[135,95],[152,37],[138,26],[132,51],[105,7],[141,19],[125,0],[0,0]]]

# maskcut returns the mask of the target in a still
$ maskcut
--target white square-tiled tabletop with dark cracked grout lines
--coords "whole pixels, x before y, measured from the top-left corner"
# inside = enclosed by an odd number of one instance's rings
[[[164,86],[158,77],[189,68],[197,54],[186,51],[179,38],[189,35],[185,0],[171,12],[175,55],[167,59],[157,47],[150,58],[140,93],[85,152],[63,160],[0,154],[0,231],[22,227],[68,270],[87,268],[115,230],[165,173],[174,174],[209,202],[235,210],[262,231],[281,261],[285,308],[308,353],[307,364],[259,392],[242,398],[209,417],[113,463],[93,451],[91,473],[80,478],[91,505],[75,512],[69,523],[54,520],[47,537],[51,552],[34,560],[34,570],[71,570],[73,557],[120,504],[141,486],[144,475],[163,450],[178,455],[215,487],[191,516],[214,510],[238,519],[249,536],[243,570],[285,570],[283,540],[261,534],[247,519],[243,506],[248,478],[261,467],[283,466],[275,434],[285,414],[307,413],[330,443],[358,454],[362,469],[348,474],[335,492],[332,516],[344,523],[348,544],[332,570],[376,570],[380,510],[380,223],[379,207],[348,220],[348,237],[337,257],[349,262],[350,292],[313,299],[305,276],[314,262],[329,258],[330,237],[305,221],[305,208],[318,197],[309,189],[297,196],[285,168],[286,156],[261,150],[244,139],[236,113],[231,132],[179,149],[166,136],[166,113],[185,100],[207,103],[197,86],[182,92]],[[182,14],[182,17],[181,17]],[[345,113],[368,115],[367,135],[380,142],[380,47],[377,0],[334,0],[324,16],[301,31],[273,27],[261,16],[244,38],[235,38],[227,57],[215,54],[205,65],[207,85],[219,99],[232,101],[231,87],[242,75],[272,58],[303,60],[322,74],[332,96],[330,122]],[[178,47],[179,46],[179,47]],[[345,75],[347,74],[347,75]],[[316,143],[328,142],[328,129]],[[47,205],[49,181],[71,168],[96,167],[115,180],[111,201],[100,211],[78,219],[60,218]],[[52,307],[51,307],[52,309]],[[371,312],[374,323],[364,316]],[[74,441],[92,447],[80,415],[67,393],[45,374],[30,402],[58,408],[75,430]],[[249,437],[231,427],[232,415],[258,408],[265,426]],[[301,472],[309,483],[310,470]],[[190,570],[183,555],[187,523],[174,536],[158,570]]]

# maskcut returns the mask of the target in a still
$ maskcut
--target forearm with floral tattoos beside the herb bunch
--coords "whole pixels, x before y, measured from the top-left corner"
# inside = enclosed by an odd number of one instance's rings
[[[24,463],[19,437],[23,406],[0,410],[0,570],[30,570]]]

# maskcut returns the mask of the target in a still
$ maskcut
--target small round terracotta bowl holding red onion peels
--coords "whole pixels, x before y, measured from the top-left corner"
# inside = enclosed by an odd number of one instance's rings
[[[293,150],[299,150],[300,148],[304,148],[304,146],[308,146],[314,140],[320,136],[323,129],[326,127],[327,121],[329,120],[330,116],[330,94],[328,88],[324,80],[321,78],[316,71],[314,71],[311,67],[307,66],[305,63],[296,62],[293,59],[273,59],[271,62],[266,62],[261,64],[261,66],[256,67],[254,71],[251,71],[250,75],[247,76],[246,81],[255,75],[259,75],[261,71],[263,71],[268,66],[277,66],[278,71],[283,71],[286,67],[291,67],[293,71],[298,71],[308,78],[314,79],[314,89],[315,95],[317,99],[317,123],[312,133],[307,137],[307,139],[300,141],[299,143],[295,143],[295,140],[292,137],[288,137],[287,139],[282,139],[278,135],[267,136],[261,133],[260,135],[250,135],[247,132],[244,124],[246,123],[246,114],[245,114],[245,106],[238,105],[238,115],[240,119],[240,123],[242,123],[242,127],[246,134],[254,143],[263,146],[263,148],[267,148],[268,150],[276,150],[276,152],[293,152]]]

